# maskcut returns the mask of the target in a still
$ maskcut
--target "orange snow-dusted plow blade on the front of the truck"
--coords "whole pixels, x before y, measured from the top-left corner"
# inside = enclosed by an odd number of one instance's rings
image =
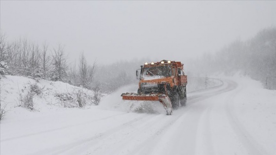
[[[167,115],[172,115],[172,102],[168,95],[164,93],[122,93],[121,96],[124,100],[138,100],[138,101],[160,101],[164,106]]]

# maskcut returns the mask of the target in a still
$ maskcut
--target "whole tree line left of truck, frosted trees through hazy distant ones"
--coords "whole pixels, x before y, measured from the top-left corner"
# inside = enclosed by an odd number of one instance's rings
[[[148,59],[150,60],[150,59]],[[68,62],[61,44],[49,47],[27,39],[8,42],[0,32],[0,75],[25,76],[32,79],[62,81],[94,92],[111,93],[116,89],[138,82],[136,69],[145,60],[126,60],[98,65],[96,59],[88,64],[83,52],[79,60]]]

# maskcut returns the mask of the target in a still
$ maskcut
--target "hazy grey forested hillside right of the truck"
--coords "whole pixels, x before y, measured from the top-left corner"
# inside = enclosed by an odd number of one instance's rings
[[[237,72],[258,80],[268,89],[276,89],[276,27],[259,31],[253,38],[236,40],[215,54],[193,60],[194,74],[234,75]]]

